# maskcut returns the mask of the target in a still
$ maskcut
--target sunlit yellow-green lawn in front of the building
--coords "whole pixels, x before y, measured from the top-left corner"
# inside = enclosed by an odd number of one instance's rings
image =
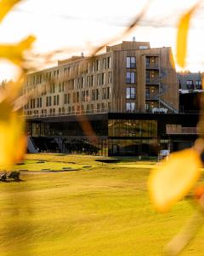
[[[25,165],[15,166],[37,173],[22,173],[20,183],[0,183],[1,256],[161,255],[190,218],[190,198],[157,213],[146,189],[154,163],[123,159],[108,165],[95,159],[30,154]],[[77,171],[38,172],[47,166]],[[203,255],[203,235],[201,229],[180,255]]]

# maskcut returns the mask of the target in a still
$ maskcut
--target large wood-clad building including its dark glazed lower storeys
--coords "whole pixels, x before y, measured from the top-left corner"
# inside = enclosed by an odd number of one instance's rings
[[[27,131],[40,151],[156,155],[173,147],[173,127],[186,126],[176,115],[172,50],[147,42],[122,42],[104,54],[58,61],[27,76],[24,92],[31,90],[36,95],[25,107]]]

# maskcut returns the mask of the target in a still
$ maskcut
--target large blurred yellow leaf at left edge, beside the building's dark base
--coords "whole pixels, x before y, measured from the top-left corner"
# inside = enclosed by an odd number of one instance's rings
[[[25,120],[14,112],[6,101],[0,103],[0,167],[8,170],[18,162],[25,151]]]

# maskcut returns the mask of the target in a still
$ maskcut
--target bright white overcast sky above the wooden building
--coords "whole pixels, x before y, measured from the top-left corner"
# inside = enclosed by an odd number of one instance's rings
[[[176,49],[178,20],[196,0],[151,0],[139,25],[122,40],[148,41],[151,47],[171,46]],[[0,44],[14,44],[28,35],[37,40],[32,52],[54,55],[52,62],[39,69],[57,64],[57,60],[84,52],[116,37],[144,8],[146,0],[24,0],[0,24]],[[204,3],[190,22],[188,55],[185,70],[204,71]],[[181,70],[176,66],[177,70]],[[18,69],[0,60],[0,81],[14,79]]]

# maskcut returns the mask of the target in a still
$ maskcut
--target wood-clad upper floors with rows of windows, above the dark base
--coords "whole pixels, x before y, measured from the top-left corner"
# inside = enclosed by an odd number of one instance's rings
[[[178,111],[178,81],[171,48],[122,42],[104,54],[73,56],[27,76],[26,116],[105,112]]]

